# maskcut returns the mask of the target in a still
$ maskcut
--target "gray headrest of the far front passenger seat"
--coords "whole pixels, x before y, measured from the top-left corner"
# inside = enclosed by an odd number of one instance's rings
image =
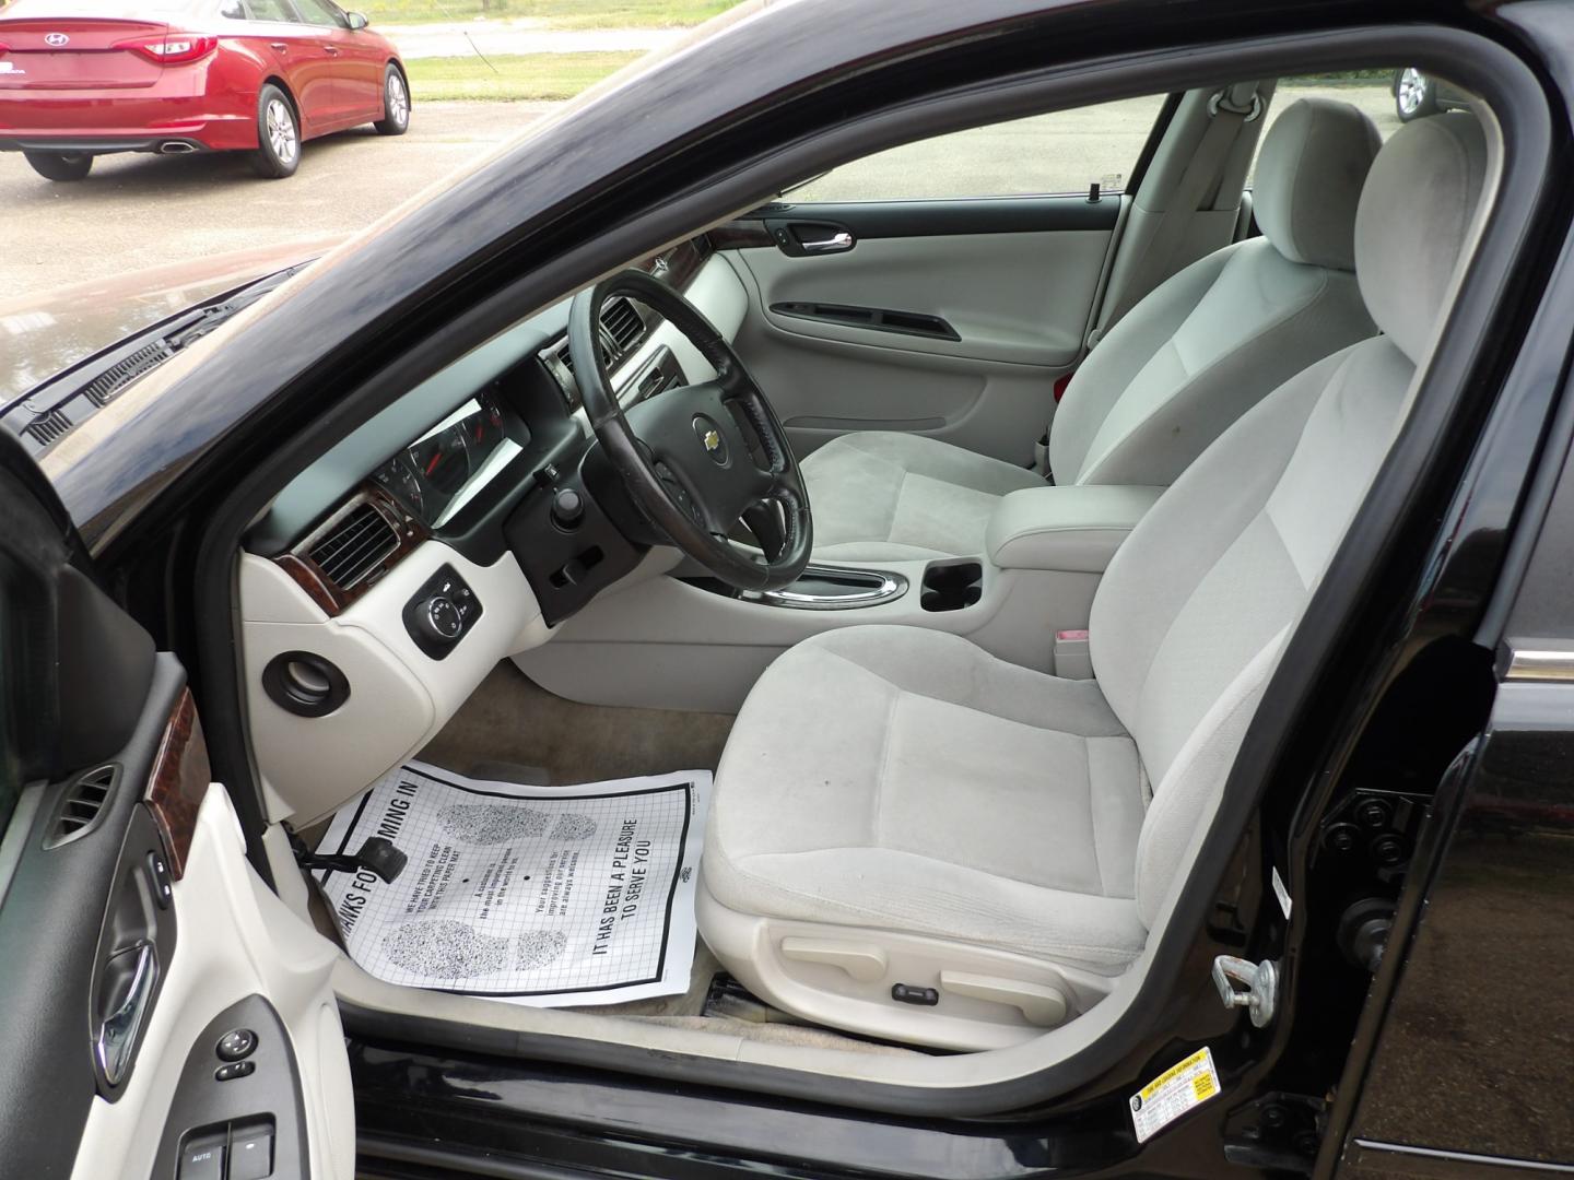
[[[1292,263],[1354,269],[1355,205],[1380,146],[1377,127],[1349,102],[1291,102],[1258,156],[1251,211],[1262,236]]]

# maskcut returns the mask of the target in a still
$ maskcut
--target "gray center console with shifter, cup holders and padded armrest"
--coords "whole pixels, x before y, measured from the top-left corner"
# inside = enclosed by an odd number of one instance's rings
[[[619,593],[560,623],[551,643],[515,656],[570,700],[737,711],[760,672],[831,628],[922,626],[963,636],[1001,659],[1088,677],[1092,596],[1158,488],[1045,486],[1006,496],[977,555],[831,565],[774,592],[740,592],[671,549]],[[615,677],[601,670],[617,667]]]

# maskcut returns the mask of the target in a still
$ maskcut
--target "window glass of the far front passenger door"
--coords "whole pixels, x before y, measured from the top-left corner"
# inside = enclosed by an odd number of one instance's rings
[[[800,186],[796,201],[949,200],[1121,190],[1163,94],[992,123],[878,151]]]

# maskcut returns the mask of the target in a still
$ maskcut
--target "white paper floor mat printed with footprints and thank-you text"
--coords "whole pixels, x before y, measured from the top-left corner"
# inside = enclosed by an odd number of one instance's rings
[[[394,883],[318,873],[351,958],[389,983],[540,1007],[682,993],[710,771],[576,787],[408,763],[345,804],[318,845],[381,835]]]

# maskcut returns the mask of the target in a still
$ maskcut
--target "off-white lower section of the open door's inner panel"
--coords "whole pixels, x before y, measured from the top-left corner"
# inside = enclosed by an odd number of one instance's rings
[[[124,1160],[127,1175],[173,1175],[183,1147],[211,1142],[239,1158],[246,1131],[266,1128],[275,1180],[349,1180],[349,1060],[329,980],[338,950],[252,870],[220,787],[203,796],[173,894],[186,936],[148,1020],[142,1068],[118,1103],[93,1103],[72,1175],[96,1180],[105,1160]],[[257,1034],[246,1059],[255,1068],[217,1081],[217,1043],[231,1027]]]

